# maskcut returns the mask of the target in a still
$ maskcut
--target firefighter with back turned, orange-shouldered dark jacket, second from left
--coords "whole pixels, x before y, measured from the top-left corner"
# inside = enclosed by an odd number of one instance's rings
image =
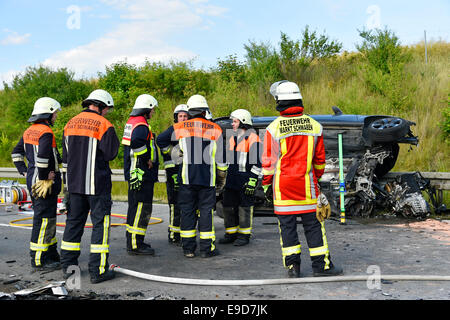
[[[90,211],[93,224],[89,255],[91,283],[114,278],[109,270],[111,226],[111,169],[119,139],[105,115],[114,107],[111,95],[94,90],[82,102],[84,110],[69,120],[63,134],[63,175],[70,195],[66,227],[61,243],[61,264],[68,278],[69,266],[78,265],[81,237]]]

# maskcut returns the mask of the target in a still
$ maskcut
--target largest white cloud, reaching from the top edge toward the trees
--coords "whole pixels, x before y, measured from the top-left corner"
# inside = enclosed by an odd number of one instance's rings
[[[203,16],[220,16],[227,10],[207,5],[207,0],[102,0],[119,12],[121,23],[94,41],[58,52],[43,64],[68,67],[76,76],[93,76],[105,65],[127,60],[169,62],[188,60],[196,53],[169,45],[166,39],[189,28],[203,28],[210,21]]]

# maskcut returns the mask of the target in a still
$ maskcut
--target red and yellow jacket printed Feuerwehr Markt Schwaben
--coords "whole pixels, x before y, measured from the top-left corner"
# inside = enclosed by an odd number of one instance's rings
[[[315,212],[325,169],[322,126],[307,115],[280,116],[266,130],[263,185],[273,185],[276,214]]]

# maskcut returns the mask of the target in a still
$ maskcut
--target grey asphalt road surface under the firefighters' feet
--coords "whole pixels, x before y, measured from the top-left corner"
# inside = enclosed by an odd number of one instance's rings
[[[113,214],[125,214],[126,203],[115,202]],[[0,292],[38,287],[62,281],[62,271],[32,272],[28,254],[30,228],[13,227],[12,220],[31,218],[18,213],[17,206],[0,205]],[[167,241],[168,206],[154,204],[153,217],[162,222],[150,225],[146,239],[156,250],[154,257],[130,256],[125,248],[125,228],[111,228],[112,264],[152,275],[195,279],[278,279],[286,278],[281,260],[278,225],[275,217],[254,217],[253,236],[245,247],[220,245],[221,255],[187,259],[182,249]],[[59,216],[58,222],[64,222]],[[158,222],[160,220],[152,220]],[[88,219],[89,222],[89,219]],[[123,223],[113,217],[113,223]],[[406,221],[396,218],[374,220],[349,219],[340,225],[326,222],[331,258],[344,268],[345,275],[450,275],[450,221]],[[31,223],[25,220],[18,223]],[[214,219],[216,237],[224,233],[223,220]],[[303,277],[311,277],[308,247],[301,224]],[[90,229],[86,228],[79,259],[80,288],[69,291],[78,298],[101,300],[450,300],[450,281],[367,281],[283,284],[265,286],[193,286],[142,280],[117,274],[116,278],[91,284],[87,272]],[[57,228],[61,242],[63,227]],[[375,268],[375,269],[374,269]],[[375,284],[375,285],[374,285]]]

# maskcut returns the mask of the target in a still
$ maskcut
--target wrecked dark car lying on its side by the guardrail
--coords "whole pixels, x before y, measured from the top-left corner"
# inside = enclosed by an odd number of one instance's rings
[[[418,138],[411,131],[415,123],[394,116],[343,114],[338,107],[332,107],[332,110],[330,115],[310,115],[323,126],[326,166],[319,185],[331,204],[332,214],[340,213],[338,134],[342,134],[346,215],[369,217],[377,207],[394,213],[402,212],[403,215],[406,212],[415,217],[428,215],[429,206],[420,190],[414,189],[416,180],[403,179],[406,182],[401,182],[400,179],[398,183],[387,186],[381,185],[379,180],[394,167],[400,143],[418,144]],[[252,118],[253,127],[261,139],[275,118]],[[228,117],[214,119],[214,122],[224,132],[231,129]],[[412,182],[408,184],[408,181]],[[223,216],[220,197],[216,213]],[[254,214],[273,214],[273,204],[265,199],[261,181],[255,191]]]

